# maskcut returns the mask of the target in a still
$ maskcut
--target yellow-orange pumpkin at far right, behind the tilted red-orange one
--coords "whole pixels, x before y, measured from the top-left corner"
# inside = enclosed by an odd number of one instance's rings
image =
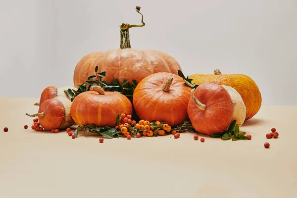
[[[215,83],[234,88],[244,100],[246,105],[246,120],[252,118],[260,109],[262,103],[261,93],[256,83],[244,74],[221,74],[216,69],[214,74],[193,74],[193,84]]]

